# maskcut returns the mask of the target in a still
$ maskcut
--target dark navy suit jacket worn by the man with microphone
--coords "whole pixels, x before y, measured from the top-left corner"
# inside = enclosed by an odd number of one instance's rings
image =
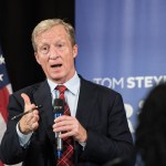
[[[15,131],[19,118],[11,117],[23,112],[21,93],[27,93],[40,108],[40,126],[27,147],[21,147]],[[9,121],[1,142],[1,159],[6,164],[23,162],[23,166],[54,166],[55,145],[53,107],[46,81],[22,89],[10,96]],[[134,153],[122,96],[105,86],[81,77],[76,118],[87,129],[86,146],[74,143],[75,166],[101,166],[117,157]]]

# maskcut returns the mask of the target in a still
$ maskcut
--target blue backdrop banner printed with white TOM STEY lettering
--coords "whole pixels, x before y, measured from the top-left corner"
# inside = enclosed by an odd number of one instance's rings
[[[166,0],[76,0],[76,68],[123,95],[134,135],[147,92],[166,81]]]

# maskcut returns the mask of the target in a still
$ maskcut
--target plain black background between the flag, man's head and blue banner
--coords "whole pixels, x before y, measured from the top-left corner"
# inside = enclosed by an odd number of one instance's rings
[[[13,91],[44,80],[34,59],[31,33],[39,21],[50,18],[74,25],[74,0],[0,1],[0,43]]]

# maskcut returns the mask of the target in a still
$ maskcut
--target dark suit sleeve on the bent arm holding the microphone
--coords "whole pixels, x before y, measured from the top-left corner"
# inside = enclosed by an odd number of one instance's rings
[[[134,153],[122,96],[117,93],[111,100],[112,102],[107,100],[102,106],[107,122],[107,125],[103,126],[106,132],[87,128],[86,146],[82,153],[85,160],[103,164]]]

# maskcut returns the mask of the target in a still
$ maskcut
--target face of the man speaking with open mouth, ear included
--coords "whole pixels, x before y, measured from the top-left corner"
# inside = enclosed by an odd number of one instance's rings
[[[64,83],[75,73],[74,58],[77,45],[72,46],[63,25],[54,25],[37,37],[35,59],[46,77]]]

